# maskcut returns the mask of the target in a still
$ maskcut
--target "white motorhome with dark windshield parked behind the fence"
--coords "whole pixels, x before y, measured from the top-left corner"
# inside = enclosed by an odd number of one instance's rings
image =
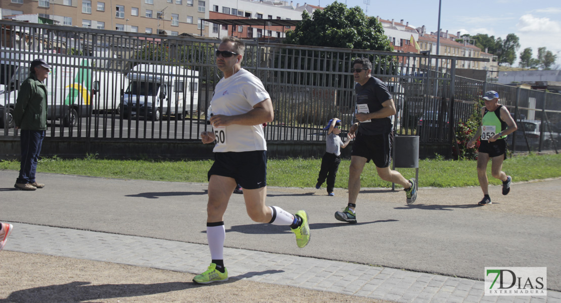
[[[146,116],[156,121],[162,115],[181,119],[199,104],[199,72],[182,66],[139,64],[127,73],[130,81],[123,94],[122,114]]]

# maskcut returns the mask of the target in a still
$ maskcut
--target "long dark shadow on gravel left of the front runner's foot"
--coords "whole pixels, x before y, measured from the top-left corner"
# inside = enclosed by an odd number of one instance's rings
[[[90,300],[111,299],[116,297],[135,297],[154,295],[187,288],[197,287],[189,282],[167,282],[154,284],[105,284],[89,285],[91,282],[71,282],[62,285],[34,287],[10,293],[0,303],[25,302],[82,302]]]

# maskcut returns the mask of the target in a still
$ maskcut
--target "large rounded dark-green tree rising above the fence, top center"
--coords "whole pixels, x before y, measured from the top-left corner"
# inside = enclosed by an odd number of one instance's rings
[[[312,16],[304,11],[302,22],[286,36],[287,44],[393,51],[376,18],[366,17],[358,6],[347,8],[339,2],[315,10]]]

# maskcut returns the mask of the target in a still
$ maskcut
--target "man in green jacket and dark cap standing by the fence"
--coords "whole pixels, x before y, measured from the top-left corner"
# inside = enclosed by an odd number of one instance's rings
[[[35,190],[45,184],[35,181],[37,160],[47,130],[47,86],[50,66],[44,59],[35,59],[29,67],[29,77],[21,83],[13,118],[16,129],[21,129],[20,175],[13,185],[21,190]]]

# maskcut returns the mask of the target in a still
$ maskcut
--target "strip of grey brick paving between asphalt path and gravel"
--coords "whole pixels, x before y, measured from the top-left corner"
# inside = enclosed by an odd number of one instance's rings
[[[200,273],[208,246],[149,237],[14,223],[5,250]],[[484,296],[484,282],[245,249],[224,249],[230,277],[397,302],[561,302],[548,296]]]

